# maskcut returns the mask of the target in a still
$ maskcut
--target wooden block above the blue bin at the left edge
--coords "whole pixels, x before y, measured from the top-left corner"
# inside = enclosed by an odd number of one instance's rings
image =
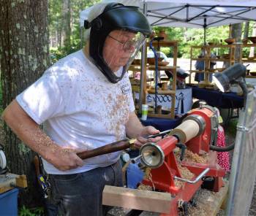
[[[0,193],[4,193],[8,190],[12,190],[13,187],[10,185],[16,185],[19,188],[26,188],[26,175],[18,175],[18,174],[1,174],[0,175]]]

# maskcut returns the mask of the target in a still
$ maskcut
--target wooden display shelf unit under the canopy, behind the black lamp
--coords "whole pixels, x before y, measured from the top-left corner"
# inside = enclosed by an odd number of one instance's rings
[[[211,53],[216,53],[214,52],[216,49],[225,49],[226,54],[225,57],[218,56],[217,58],[211,58]],[[195,58],[195,50],[197,50],[197,53],[200,53],[201,50],[204,49],[206,50],[206,55],[204,58]],[[199,52],[198,52],[199,50]],[[211,85],[209,82],[209,74],[211,73],[216,73],[216,72],[222,72],[225,67],[222,66],[222,68],[210,68],[211,62],[218,62],[221,61],[223,64],[228,63],[228,65],[233,65],[235,63],[235,51],[236,51],[236,45],[203,45],[203,46],[191,46],[190,47],[190,74],[189,74],[189,83],[192,83],[192,73],[204,73],[204,80],[202,82],[202,85]],[[204,67],[205,69],[200,71],[200,70],[193,70],[192,66],[195,65],[196,61],[204,61]]]

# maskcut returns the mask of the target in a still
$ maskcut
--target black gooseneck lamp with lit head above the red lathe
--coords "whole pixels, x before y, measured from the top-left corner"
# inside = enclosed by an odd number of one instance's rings
[[[244,107],[246,105],[247,88],[245,82],[246,66],[242,63],[235,63],[228,67],[222,73],[214,74],[213,81],[222,92],[230,90],[230,84],[238,83],[244,93]]]

